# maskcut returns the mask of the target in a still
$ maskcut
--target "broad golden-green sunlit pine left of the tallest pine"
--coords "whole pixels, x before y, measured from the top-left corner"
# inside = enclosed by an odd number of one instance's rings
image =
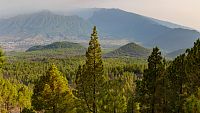
[[[72,110],[73,95],[68,81],[52,65],[46,76],[42,76],[35,84],[32,105],[35,110],[51,113],[69,113]]]

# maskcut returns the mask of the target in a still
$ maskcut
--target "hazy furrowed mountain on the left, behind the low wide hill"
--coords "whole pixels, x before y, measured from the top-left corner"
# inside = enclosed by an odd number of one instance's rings
[[[92,25],[78,16],[62,16],[49,11],[19,15],[0,21],[0,36],[47,38],[85,36],[90,34]]]

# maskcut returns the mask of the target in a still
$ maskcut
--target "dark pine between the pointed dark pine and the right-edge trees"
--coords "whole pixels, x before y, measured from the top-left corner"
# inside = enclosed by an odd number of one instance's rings
[[[187,84],[187,74],[185,72],[185,54],[178,56],[167,69],[169,79],[168,101],[170,112],[183,113],[183,104],[186,99],[184,89]]]

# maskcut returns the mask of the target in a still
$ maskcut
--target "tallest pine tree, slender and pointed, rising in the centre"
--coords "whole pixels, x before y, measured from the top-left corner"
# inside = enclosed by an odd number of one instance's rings
[[[91,34],[86,52],[86,63],[82,69],[79,69],[77,76],[77,96],[84,100],[87,111],[97,113],[98,97],[101,93],[104,78],[101,47],[98,42],[96,27],[93,28]]]

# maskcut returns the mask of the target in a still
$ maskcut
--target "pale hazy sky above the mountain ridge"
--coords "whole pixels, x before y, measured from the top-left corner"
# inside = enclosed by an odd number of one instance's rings
[[[200,30],[200,0],[0,0],[0,17],[94,7],[119,8]]]

